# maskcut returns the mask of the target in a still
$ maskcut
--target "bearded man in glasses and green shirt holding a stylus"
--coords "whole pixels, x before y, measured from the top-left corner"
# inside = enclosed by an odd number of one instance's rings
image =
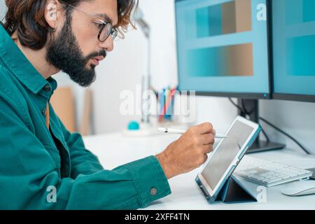
[[[49,104],[64,71],[81,86],[126,31],[136,0],[6,0],[0,25],[0,209],[138,209],[207,160],[215,131],[191,127],[158,155],[100,165]]]

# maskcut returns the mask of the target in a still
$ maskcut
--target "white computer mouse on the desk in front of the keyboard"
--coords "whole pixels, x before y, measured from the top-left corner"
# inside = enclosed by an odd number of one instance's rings
[[[289,183],[281,190],[283,195],[302,196],[315,194],[315,181],[297,181]]]

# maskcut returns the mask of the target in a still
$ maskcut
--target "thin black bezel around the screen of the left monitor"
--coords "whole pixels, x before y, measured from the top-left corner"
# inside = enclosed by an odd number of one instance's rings
[[[175,26],[176,26],[176,36],[179,35],[179,27],[177,25],[177,10],[176,10],[176,3],[179,1],[188,1],[188,0],[175,0]],[[267,6],[267,18],[269,18],[269,0],[266,0],[266,6]],[[204,97],[233,97],[233,98],[241,98],[241,99],[272,99],[272,67],[270,66],[271,63],[271,51],[269,48],[269,44],[271,44],[272,36],[269,34],[269,31],[271,30],[270,22],[267,20],[267,60],[268,60],[268,83],[269,83],[269,92],[208,92],[208,91],[195,91],[196,96],[204,96]],[[179,76],[179,41],[177,41],[176,38],[176,52],[177,52],[177,77],[179,79],[179,91],[186,91],[181,89],[181,81]],[[189,91],[189,90],[188,90]]]

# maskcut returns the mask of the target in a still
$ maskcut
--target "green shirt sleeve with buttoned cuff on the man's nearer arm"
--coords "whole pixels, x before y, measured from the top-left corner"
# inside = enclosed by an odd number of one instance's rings
[[[3,96],[0,209],[138,209],[171,193],[154,156],[113,170],[61,179],[50,153]]]

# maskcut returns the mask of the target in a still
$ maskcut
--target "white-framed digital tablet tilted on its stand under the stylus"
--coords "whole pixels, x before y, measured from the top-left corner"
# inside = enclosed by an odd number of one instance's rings
[[[238,116],[197,175],[196,182],[209,202],[214,202],[225,181],[235,170],[241,158],[251,147],[261,130],[260,125]]]

